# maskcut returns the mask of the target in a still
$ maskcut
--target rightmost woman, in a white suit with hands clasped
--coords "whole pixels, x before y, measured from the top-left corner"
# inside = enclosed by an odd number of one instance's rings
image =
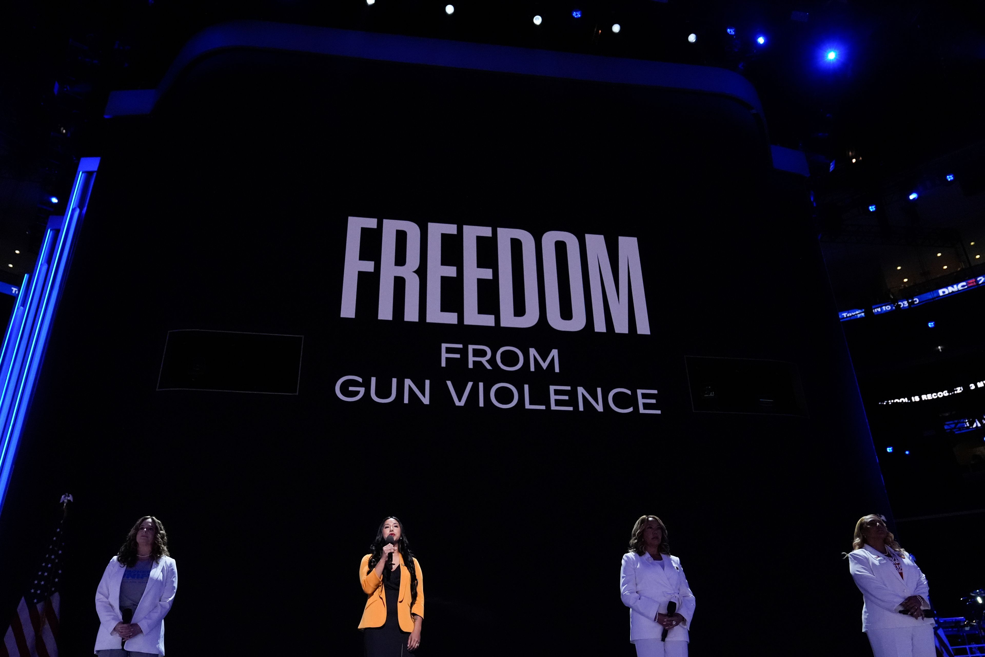
[[[934,620],[924,614],[930,586],[883,518],[860,518],[852,548],[848,568],[862,591],[862,631],[875,657],[935,657]]]

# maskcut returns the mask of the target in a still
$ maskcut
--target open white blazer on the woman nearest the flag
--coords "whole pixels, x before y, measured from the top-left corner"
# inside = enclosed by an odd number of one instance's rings
[[[120,635],[113,631],[117,623],[123,622],[120,613],[120,582],[123,571],[119,561],[113,557],[102,573],[96,589],[96,613],[99,615],[99,633],[96,635],[97,650],[119,650],[121,647],[133,652],[164,654],[164,617],[174,602],[174,592],[178,588],[178,569],[173,558],[162,557],[151,568],[147,588],[133,613],[131,623],[140,625],[143,630],[125,645]]]

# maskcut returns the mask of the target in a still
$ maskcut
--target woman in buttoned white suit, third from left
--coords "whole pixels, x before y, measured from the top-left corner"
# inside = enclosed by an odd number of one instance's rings
[[[629,608],[629,642],[637,657],[688,657],[688,627],[694,615],[694,594],[671,556],[667,527],[655,515],[636,521],[623,558],[620,593]],[[668,604],[677,607],[668,614]],[[666,640],[661,640],[664,631]]]

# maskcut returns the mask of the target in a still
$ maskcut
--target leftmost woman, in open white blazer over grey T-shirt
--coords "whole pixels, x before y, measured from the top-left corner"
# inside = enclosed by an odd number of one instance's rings
[[[161,521],[146,515],[102,573],[96,589],[99,657],[164,655],[164,616],[174,601],[178,570],[167,553]]]

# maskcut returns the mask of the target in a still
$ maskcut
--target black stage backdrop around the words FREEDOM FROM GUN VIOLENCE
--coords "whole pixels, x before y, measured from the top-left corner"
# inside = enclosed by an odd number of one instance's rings
[[[107,131],[0,533],[0,559],[29,563],[46,500],[76,495],[66,654],[90,649],[103,563],[145,513],[181,573],[173,654],[358,653],[357,564],[389,513],[421,559],[427,655],[558,640],[631,654],[617,567],[643,513],[667,523],[699,599],[694,655],[746,645],[761,624],[775,645],[800,643],[805,610],[832,604],[844,613],[798,651],[867,654],[841,553],[858,517],[888,503],[803,180],[771,168],[748,107],[231,51],[152,117]],[[605,234],[614,264],[616,237],[636,236],[652,334],[558,332],[543,281],[527,330],[403,322],[399,300],[379,321],[374,274],[360,276],[357,318],[341,319],[347,216],[425,234],[523,228],[539,260],[547,230]],[[378,234],[363,230],[363,259],[378,259]],[[445,264],[459,239],[445,237]],[[689,266],[735,254],[731,276],[782,308]],[[461,311],[460,280],[443,309]],[[496,282],[480,285],[492,312]],[[167,331],[188,328],[303,335],[299,394],[157,391]],[[561,370],[442,369],[442,342],[558,349]],[[685,356],[792,362],[808,416],[695,413]],[[333,388],[348,374],[427,378],[430,405],[343,402]],[[662,415],[459,408],[445,379],[529,382],[541,403],[550,384],[655,388]],[[5,606],[23,573],[3,570]]]

